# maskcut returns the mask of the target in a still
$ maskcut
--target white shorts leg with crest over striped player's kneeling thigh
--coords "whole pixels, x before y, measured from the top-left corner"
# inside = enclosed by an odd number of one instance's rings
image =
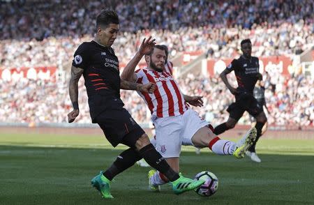
[[[163,158],[178,158],[181,153],[181,116],[156,119],[156,150]]]

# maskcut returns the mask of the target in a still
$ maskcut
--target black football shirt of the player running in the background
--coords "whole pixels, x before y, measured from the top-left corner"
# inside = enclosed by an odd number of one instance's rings
[[[245,59],[244,56],[240,56],[239,59],[234,59],[227,69],[234,70],[238,82],[237,91],[253,94],[260,69],[257,57],[252,56],[251,59]]]

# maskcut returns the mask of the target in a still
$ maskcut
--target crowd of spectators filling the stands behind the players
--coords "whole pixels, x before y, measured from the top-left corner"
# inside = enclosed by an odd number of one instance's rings
[[[149,35],[168,45],[170,58],[197,50],[214,59],[236,56],[244,38],[251,38],[254,56],[300,54],[314,46],[311,0],[1,1],[0,69],[69,64],[77,46],[93,38],[94,19],[102,8],[119,13],[121,32],[114,50],[121,63]],[[302,75],[265,78],[270,124],[314,126],[313,79]],[[198,109],[204,119],[214,125],[227,119],[225,109],[234,97],[220,78],[189,75],[179,83],[184,93],[204,96],[204,107]],[[71,109],[67,82],[0,79],[0,91],[0,122],[65,122]],[[80,81],[77,121],[89,123],[82,92]],[[137,93],[122,91],[121,98],[136,121],[149,121]],[[239,123],[250,123],[248,115]]]

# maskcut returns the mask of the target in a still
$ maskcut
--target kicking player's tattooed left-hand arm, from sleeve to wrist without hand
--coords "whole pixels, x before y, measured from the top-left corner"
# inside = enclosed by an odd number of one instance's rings
[[[78,81],[82,76],[84,70],[82,68],[75,68],[72,66],[71,68],[71,77],[70,77],[70,84],[68,85],[68,93],[70,95],[70,100],[72,104],[77,103],[78,99]]]

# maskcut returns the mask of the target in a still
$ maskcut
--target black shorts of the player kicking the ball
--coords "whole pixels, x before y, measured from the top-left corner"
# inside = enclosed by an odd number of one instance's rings
[[[114,147],[125,144],[135,148],[135,142],[145,133],[124,108],[107,109],[96,116],[95,122]]]

